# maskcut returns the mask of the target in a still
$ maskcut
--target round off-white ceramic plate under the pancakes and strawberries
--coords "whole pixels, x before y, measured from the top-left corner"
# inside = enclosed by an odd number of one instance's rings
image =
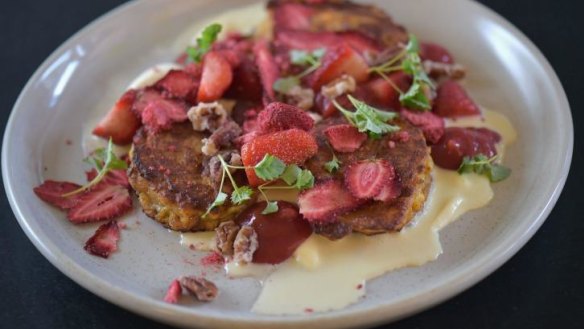
[[[259,284],[209,275],[222,293],[205,305],[163,303],[167,284],[196,258],[177,236],[136,211],[125,219],[120,251],[109,260],[82,245],[95,225],[74,226],[32,192],[45,178],[82,181],[79,141],[84,122],[105,111],[144,68],[175,57],[176,37],[197,19],[242,1],[138,1],[84,28],[30,79],[6,129],[2,153],[6,192],[18,221],[42,254],[86,289],[144,316],[181,326],[341,328],[387,322],[420,311],[475,284],[509,259],[555,204],[572,155],[569,105],[553,69],[515,27],[465,0],[369,2],[387,9],[421,39],[449,48],[470,69],[466,80],[482,105],[505,113],[519,131],[506,159],[513,175],[495,185],[495,199],[445,229],[444,254],[420,268],[372,280],[367,297],[344,310],[302,316],[249,312]],[[186,40],[179,40],[179,44]],[[66,140],[73,145],[67,145]],[[46,168],[46,170],[45,170]],[[136,224],[140,221],[141,224]]]

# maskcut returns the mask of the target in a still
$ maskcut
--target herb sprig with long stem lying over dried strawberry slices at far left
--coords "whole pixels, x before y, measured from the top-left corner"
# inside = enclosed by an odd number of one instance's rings
[[[102,179],[112,170],[128,169],[128,164],[126,163],[126,161],[118,158],[114,153],[114,143],[111,138],[107,143],[107,147],[105,148],[101,147],[96,149],[87,158],[85,158],[84,161],[95,167],[95,170],[97,170],[97,176],[95,176],[95,178],[92,179],[91,182],[76,189],[75,191],[63,194],[62,195],[63,197],[72,196],[88,190],[89,188],[101,182]]]

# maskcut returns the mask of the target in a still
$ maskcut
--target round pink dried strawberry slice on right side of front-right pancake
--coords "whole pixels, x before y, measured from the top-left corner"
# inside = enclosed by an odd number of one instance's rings
[[[358,199],[373,199],[395,179],[395,169],[387,160],[365,160],[352,163],[345,171],[345,186]]]

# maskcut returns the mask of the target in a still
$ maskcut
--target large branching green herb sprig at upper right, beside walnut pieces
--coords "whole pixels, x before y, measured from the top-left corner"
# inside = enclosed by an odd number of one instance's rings
[[[434,90],[436,87],[424,71],[419,52],[418,39],[410,34],[408,44],[401,52],[387,62],[371,67],[369,72],[376,73],[385,79],[400,94],[399,100],[403,106],[427,111],[431,109],[431,104],[426,91]],[[413,82],[407,91],[401,90],[387,75],[397,71],[403,71],[412,76]]]

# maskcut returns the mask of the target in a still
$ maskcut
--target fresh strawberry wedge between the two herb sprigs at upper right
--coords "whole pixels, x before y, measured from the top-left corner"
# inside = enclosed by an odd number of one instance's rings
[[[352,76],[357,83],[367,80],[369,76],[369,66],[365,60],[347,45],[326,52],[320,68],[310,76],[310,85],[314,91],[320,91],[323,85],[343,74]]]

